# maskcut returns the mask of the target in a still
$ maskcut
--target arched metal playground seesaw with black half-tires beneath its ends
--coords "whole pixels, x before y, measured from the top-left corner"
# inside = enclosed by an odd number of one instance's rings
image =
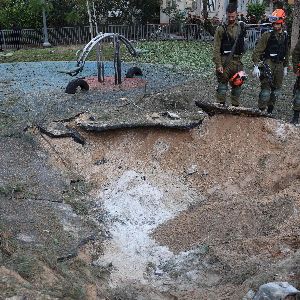
[[[77,52],[77,64],[76,67],[69,71],[64,71],[64,73],[69,74],[71,76],[78,75],[84,68],[85,61],[92,51],[94,47],[96,47],[96,56],[97,56],[97,77],[98,82],[104,82],[104,62],[101,59],[101,43],[104,40],[112,39],[114,45],[114,71],[115,71],[115,84],[122,83],[122,69],[121,69],[121,58],[120,58],[120,46],[123,43],[128,52],[137,57],[143,53],[142,50],[134,48],[132,43],[122,35],[116,33],[100,33],[96,37],[94,37],[86,46],[80,51]],[[126,77],[134,77],[134,76],[141,76],[142,71],[138,67],[133,67],[128,70]],[[77,88],[80,87],[82,90],[88,90],[89,85],[83,78],[78,78],[72,80],[68,86],[66,87],[66,93],[68,94],[75,94]]]

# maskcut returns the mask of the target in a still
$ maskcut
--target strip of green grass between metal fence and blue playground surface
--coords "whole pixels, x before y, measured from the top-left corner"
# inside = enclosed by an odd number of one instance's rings
[[[85,45],[57,46],[51,48],[34,48],[18,51],[6,51],[3,56],[0,53],[0,63],[35,62],[35,61],[76,61],[76,53]],[[145,50],[141,56],[133,57],[126,47],[121,47],[121,59],[123,62],[166,64],[177,70],[189,70],[193,73],[210,76],[214,73],[212,62],[213,45],[210,42],[199,41],[145,41],[136,42],[134,47]],[[80,53],[80,52],[79,52]],[[101,59],[113,61],[114,48],[111,43],[103,43]],[[96,60],[96,50],[93,49],[87,60]],[[251,51],[243,58],[246,66],[251,66]]]

